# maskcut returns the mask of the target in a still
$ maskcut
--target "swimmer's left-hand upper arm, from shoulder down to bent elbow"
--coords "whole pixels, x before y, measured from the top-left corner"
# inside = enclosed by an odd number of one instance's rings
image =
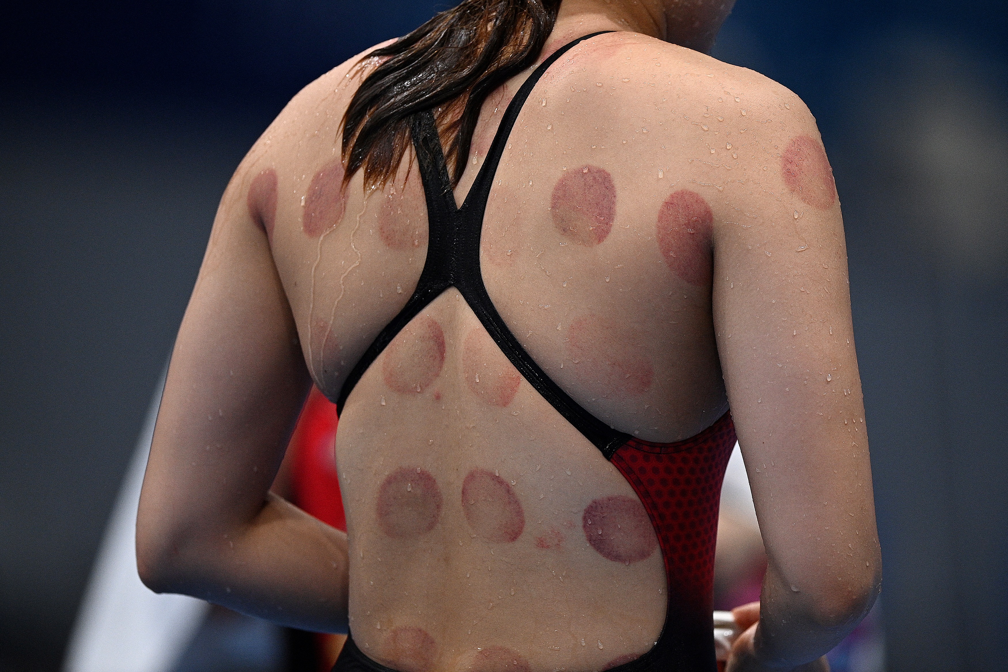
[[[220,552],[222,535],[261,512],[309,387],[262,226],[270,215],[263,208],[276,203],[262,146],[222,198],[175,341],[144,479],[141,576],[172,590],[181,589],[176,575],[211,567],[208,555]]]

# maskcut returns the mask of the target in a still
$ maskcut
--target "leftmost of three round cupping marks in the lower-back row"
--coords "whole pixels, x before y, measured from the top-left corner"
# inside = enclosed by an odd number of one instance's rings
[[[442,496],[430,473],[400,466],[378,488],[378,526],[393,539],[418,537],[440,519]]]

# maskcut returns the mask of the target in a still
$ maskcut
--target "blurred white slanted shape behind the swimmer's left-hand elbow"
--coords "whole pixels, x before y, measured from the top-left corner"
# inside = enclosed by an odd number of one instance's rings
[[[136,570],[136,509],[164,376],[112,509],[64,661],[64,672],[168,672],[185,652],[210,604],[159,595]]]

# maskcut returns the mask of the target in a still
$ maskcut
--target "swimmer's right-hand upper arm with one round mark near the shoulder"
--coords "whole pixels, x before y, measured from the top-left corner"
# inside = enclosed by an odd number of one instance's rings
[[[715,216],[718,349],[779,598],[842,627],[880,576],[843,222],[814,119],[766,82]]]

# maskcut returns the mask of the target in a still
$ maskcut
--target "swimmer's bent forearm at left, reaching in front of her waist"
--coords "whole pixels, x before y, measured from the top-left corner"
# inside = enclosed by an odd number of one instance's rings
[[[219,530],[151,558],[140,574],[179,592],[302,630],[346,633],[347,537],[269,494],[243,528]]]

